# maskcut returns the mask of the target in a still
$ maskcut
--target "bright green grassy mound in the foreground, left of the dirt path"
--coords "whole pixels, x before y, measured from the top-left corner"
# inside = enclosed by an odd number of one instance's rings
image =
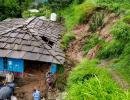
[[[72,70],[66,100],[128,100],[128,93],[97,64],[97,60],[85,59]]]

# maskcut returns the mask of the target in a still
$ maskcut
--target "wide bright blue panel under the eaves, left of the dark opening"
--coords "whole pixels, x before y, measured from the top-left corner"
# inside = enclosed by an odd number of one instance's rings
[[[8,58],[8,71],[24,72],[24,60]]]

